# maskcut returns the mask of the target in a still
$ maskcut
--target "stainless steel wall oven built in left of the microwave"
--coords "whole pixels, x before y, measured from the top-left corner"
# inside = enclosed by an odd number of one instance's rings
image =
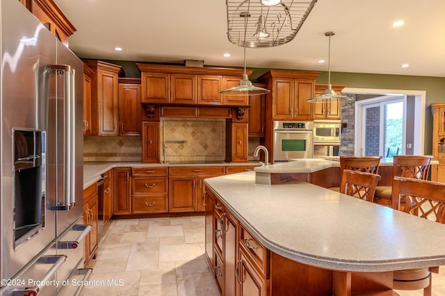
[[[293,158],[312,158],[312,121],[273,122],[273,162],[289,162]]]

